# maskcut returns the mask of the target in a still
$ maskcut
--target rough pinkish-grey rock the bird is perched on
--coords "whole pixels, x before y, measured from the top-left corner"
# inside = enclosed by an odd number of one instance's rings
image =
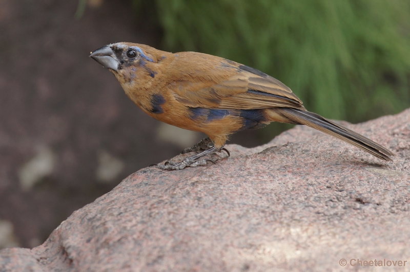
[[[296,127],[216,165],[141,169],[43,245],[0,251],[0,270],[407,271],[410,109],[347,126],[394,161]]]

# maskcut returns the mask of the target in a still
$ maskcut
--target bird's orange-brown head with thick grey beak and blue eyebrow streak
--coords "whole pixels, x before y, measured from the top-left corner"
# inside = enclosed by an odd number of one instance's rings
[[[134,79],[155,78],[157,64],[166,53],[145,44],[117,42],[95,50],[90,57],[107,67],[124,87]]]

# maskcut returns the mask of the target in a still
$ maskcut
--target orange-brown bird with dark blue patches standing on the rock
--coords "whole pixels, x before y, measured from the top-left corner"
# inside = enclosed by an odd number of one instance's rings
[[[149,116],[208,135],[182,153],[181,162],[162,170],[206,166],[208,154],[222,150],[230,135],[271,122],[307,125],[352,144],[384,161],[393,152],[346,127],[305,109],[279,80],[250,66],[198,52],[170,53],[145,44],[117,42],[90,54],[108,68],[127,96]],[[215,163],[214,161],[211,161]]]

